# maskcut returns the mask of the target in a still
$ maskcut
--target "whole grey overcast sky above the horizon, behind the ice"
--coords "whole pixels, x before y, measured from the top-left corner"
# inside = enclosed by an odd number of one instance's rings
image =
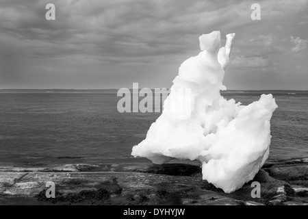
[[[308,90],[308,2],[292,0],[0,0],[0,89],[169,88],[214,30],[236,33],[228,89]]]

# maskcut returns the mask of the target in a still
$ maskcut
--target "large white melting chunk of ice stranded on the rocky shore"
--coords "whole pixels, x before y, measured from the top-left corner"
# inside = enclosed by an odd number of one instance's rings
[[[181,64],[162,115],[131,155],[155,164],[199,160],[203,179],[227,193],[255,177],[268,158],[277,105],[272,94],[246,106],[220,95],[234,37],[228,34],[221,47],[220,31],[200,36],[201,53]]]

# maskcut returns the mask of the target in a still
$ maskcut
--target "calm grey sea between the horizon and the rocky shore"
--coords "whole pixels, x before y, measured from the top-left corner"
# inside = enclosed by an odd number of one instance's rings
[[[133,158],[160,113],[120,113],[117,90],[0,90],[0,164],[146,162]],[[243,104],[272,93],[269,159],[308,157],[307,91],[224,92]],[[161,104],[162,105],[162,104]]]

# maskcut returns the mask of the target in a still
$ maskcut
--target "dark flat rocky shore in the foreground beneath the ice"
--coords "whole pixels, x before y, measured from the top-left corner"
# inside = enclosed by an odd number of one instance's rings
[[[55,198],[46,197],[48,181]],[[268,162],[253,181],[225,194],[197,164],[0,166],[0,205],[308,205],[308,158]]]

